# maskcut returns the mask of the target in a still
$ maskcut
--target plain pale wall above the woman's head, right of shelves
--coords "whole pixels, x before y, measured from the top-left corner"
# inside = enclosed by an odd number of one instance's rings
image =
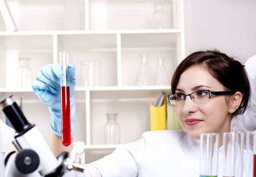
[[[244,63],[256,55],[255,0],[184,0],[186,55],[219,49]]]

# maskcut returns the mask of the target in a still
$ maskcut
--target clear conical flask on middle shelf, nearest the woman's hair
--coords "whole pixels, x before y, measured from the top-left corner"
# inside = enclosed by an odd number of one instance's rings
[[[170,85],[170,80],[164,66],[164,57],[157,58],[157,67],[155,73],[155,84],[159,86]]]

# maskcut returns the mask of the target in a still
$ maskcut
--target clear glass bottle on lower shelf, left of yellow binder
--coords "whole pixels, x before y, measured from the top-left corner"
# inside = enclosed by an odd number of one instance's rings
[[[120,125],[117,122],[117,113],[106,114],[107,122],[104,125],[104,143],[120,144]]]

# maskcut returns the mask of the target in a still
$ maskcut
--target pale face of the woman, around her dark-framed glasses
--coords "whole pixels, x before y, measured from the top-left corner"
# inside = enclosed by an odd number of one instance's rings
[[[223,84],[216,80],[203,66],[192,66],[180,75],[176,94],[191,94],[200,90],[225,91]],[[229,96],[211,96],[206,104],[196,104],[189,96],[184,104],[176,105],[175,111],[182,128],[193,139],[199,139],[206,132],[230,131],[231,114]]]

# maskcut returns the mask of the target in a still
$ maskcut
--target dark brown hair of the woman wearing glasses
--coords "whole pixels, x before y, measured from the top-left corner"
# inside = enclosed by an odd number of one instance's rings
[[[244,66],[234,58],[217,50],[199,51],[185,58],[172,76],[171,91],[173,94],[175,94],[180,75],[195,65],[205,66],[209,73],[225,86],[227,91],[241,92],[242,102],[232,115],[244,113],[250,97],[250,85]]]

